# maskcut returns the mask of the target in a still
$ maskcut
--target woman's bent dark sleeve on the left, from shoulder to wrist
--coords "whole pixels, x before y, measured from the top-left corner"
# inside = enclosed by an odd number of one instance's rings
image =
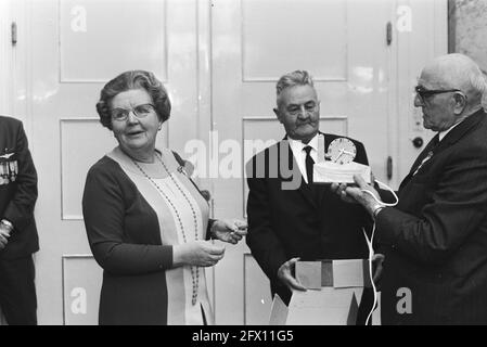
[[[104,270],[118,274],[141,274],[171,268],[172,246],[126,242],[125,196],[116,175],[106,166],[95,166],[86,180],[82,213],[95,260]]]

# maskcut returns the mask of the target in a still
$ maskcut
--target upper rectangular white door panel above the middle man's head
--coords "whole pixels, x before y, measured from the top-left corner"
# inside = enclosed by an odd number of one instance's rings
[[[346,1],[243,0],[241,7],[244,81],[277,80],[296,66],[316,80],[347,79]]]

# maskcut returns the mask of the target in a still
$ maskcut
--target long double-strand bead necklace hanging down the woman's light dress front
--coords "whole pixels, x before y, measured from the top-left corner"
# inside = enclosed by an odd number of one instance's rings
[[[196,218],[196,210],[193,207],[193,204],[191,203],[190,198],[187,196],[187,194],[184,193],[184,191],[181,189],[181,187],[178,184],[178,182],[176,181],[176,179],[172,177],[172,174],[169,172],[169,169],[167,168],[166,164],[164,164],[162,157],[159,157],[158,154],[155,154],[155,157],[159,160],[159,163],[162,164],[162,166],[164,167],[164,170],[167,172],[167,175],[169,176],[169,178],[171,179],[171,181],[175,183],[175,185],[177,187],[177,189],[179,190],[179,192],[182,194],[182,196],[184,196],[184,200],[188,202],[188,204],[190,205],[191,208],[191,213],[193,215],[193,222],[194,222],[194,240],[197,240],[197,218]],[[145,178],[155,187],[155,189],[164,196],[164,198],[169,203],[170,207],[172,208],[172,210],[175,211],[176,218],[178,219],[179,222],[179,227],[181,228],[181,232],[182,232],[182,239],[184,241],[184,243],[188,243],[188,239],[184,232],[184,226],[182,223],[182,219],[181,216],[179,215],[178,209],[176,208],[175,204],[172,203],[172,201],[169,198],[169,196],[163,191],[163,189],[152,179],[152,177],[150,177],[143,169],[142,167],[140,167],[139,164],[137,164],[136,160],[132,159],[132,163],[139,168],[139,170],[145,176]],[[198,288],[198,282],[200,282],[200,269],[197,267],[190,267],[191,269],[191,279],[193,282],[193,294],[192,294],[192,299],[191,303],[193,305],[196,304],[196,298],[197,298],[197,288]]]

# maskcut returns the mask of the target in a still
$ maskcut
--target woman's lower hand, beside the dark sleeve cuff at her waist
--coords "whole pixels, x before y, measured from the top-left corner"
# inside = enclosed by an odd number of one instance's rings
[[[213,267],[225,255],[225,247],[210,241],[192,241],[172,246],[172,266]]]

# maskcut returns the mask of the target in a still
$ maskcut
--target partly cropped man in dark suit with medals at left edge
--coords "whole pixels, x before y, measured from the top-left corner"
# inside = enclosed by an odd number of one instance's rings
[[[36,200],[37,174],[22,123],[0,116],[0,307],[9,324],[37,324]]]

